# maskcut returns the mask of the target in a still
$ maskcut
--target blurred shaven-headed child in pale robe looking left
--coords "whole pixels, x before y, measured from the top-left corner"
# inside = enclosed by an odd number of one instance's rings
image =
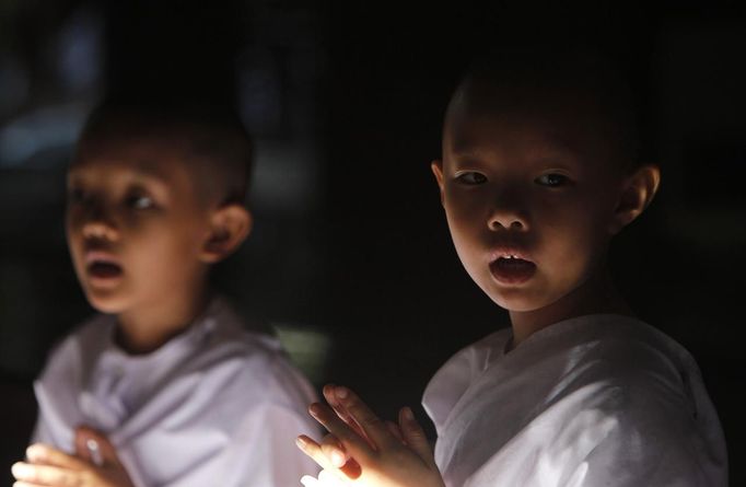
[[[280,486],[313,467],[314,394],[208,286],[250,230],[250,146],[201,105],[110,102],[68,172],[67,239],[101,314],[56,347],[18,485]]]

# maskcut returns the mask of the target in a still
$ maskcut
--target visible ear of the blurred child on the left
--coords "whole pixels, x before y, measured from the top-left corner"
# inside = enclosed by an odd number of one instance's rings
[[[200,258],[214,264],[231,255],[246,240],[252,230],[252,213],[238,204],[218,208],[210,218],[210,233]]]

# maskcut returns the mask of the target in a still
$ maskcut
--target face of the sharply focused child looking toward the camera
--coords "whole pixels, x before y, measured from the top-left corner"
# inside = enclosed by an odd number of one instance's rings
[[[548,306],[603,267],[622,187],[592,117],[456,100],[433,164],[466,270],[510,311]]]

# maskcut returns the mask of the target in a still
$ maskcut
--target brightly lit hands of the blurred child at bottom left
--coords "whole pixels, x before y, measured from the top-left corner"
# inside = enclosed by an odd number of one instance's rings
[[[12,472],[13,487],[133,487],[108,439],[88,427],[75,431],[75,455],[35,443]]]

